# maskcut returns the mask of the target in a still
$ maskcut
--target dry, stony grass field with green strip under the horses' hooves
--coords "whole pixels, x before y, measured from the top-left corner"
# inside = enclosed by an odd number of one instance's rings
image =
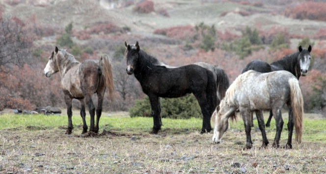
[[[66,116],[0,115],[0,173],[326,173],[325,118],[306,114],[302,143],[294,143],[290,150],[272,148],[274,119],[267,128],[267,148],[259,148],[261,133],[253,128],[254,147],[242,150],[245,132],[238,118],[230,123],[223,142],[213,145],[213,135],[199,134],[202,120],[195,118],[163,118],[162,131],[153,135],[149,134],[152,118],[109,113],[101,117],[100,134],[81,136],[77,115],[73,116],[72,135],[64,134]],[[283,118],[280,145],[287,141],[286,114]],[[89,117],[87,120],[89,126]]]

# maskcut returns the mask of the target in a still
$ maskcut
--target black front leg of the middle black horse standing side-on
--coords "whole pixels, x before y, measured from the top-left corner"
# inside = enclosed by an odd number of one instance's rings
[[[154,126],[151,133],[157,134],[161,130],[162,121],[161,121],[161,101],[160,98],[154,94],[148,95],[149,101],[152,108],[152,116],[154,120]]]

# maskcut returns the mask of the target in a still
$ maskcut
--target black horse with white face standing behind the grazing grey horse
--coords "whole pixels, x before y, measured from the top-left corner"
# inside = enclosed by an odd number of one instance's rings
[[[261,73],[268,73],[272,71],[285,70],[291,72],[299,80],[300,76],[306,76],[310,66],[311,60],[311,46],[309,45],[308,49],[302,49],[299,46],[299,52],[285,56],[284,58],[274,61],[268,64],[262,60],[253,60],[245,66],[245,69],[242,73],[248,70],[254,70]],[[272,119],[272,111],[270,112],[270,117],[267,120],[266,127],[270,127]],[[253,126],[251,118],[251,126]]]

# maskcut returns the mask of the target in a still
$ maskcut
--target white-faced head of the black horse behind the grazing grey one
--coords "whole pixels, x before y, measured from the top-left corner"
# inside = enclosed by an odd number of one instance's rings
[[[306,76],[308,73],[308,69],[310,66],[311,61],[311,46],[309,45],[308,49],[302,49],[301,46],[299,46],[299,63],[300,63],[300,73],[302,76]]]

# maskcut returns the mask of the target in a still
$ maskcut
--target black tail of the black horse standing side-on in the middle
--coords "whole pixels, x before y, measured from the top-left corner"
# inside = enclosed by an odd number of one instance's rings
[[[208,82],[206,87],[206,98],[210,108],[210,115],[212,115],[216,109],[216,106],[219,105],[220,100],[217,98],[216,95],[216,85],[215,85],[213,73],[209,70],[207,70],[206,72],[208,77]]]

